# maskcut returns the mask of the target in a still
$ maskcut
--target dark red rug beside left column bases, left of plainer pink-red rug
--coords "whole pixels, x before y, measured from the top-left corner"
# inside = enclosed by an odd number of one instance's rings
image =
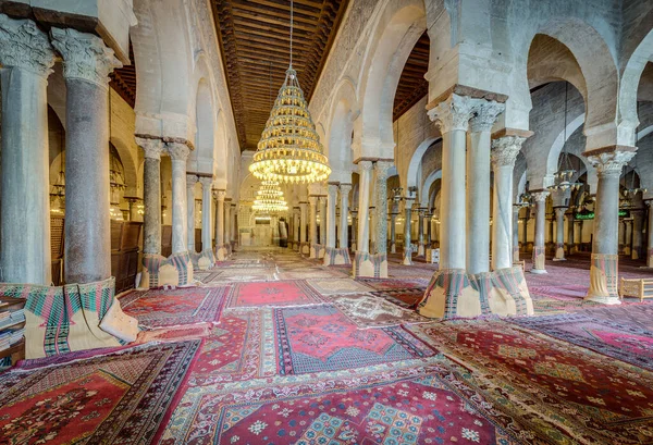
[[[226,287],[134,291],[120,302],[141,327],[175,326],[218,321],[225,292]]]

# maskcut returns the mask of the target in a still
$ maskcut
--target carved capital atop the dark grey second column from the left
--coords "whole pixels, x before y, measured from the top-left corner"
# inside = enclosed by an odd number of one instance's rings
[[[52,28],[52,46],[63,55],[63,76],[109,88],[109,73],[122,63],[101,38],[73,28]]]

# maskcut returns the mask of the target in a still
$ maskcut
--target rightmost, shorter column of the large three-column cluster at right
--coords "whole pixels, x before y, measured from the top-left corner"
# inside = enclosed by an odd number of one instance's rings
[[[521,145],[520,136],[505,136],[492,143],[494,191],[492,199],[492,269],[513,267],[513,171]],[[542,232],[542,235],[544,233]],[[544,243],[542,240],[542,243]]]

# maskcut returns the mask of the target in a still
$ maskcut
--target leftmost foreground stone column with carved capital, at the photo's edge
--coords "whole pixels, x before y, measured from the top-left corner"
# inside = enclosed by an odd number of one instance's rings
[[[54,51],[34,22],[0,14],[3,282],[52,283],[46,89],[53,64]]]

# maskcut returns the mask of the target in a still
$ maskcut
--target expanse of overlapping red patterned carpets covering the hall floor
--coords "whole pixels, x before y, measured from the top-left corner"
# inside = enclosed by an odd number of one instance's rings
[[[0,444],[653,444],[653,305],[584,302],[582,257],[546,267],[538,317],[439,322],[412,310],[432,264],[237,252],[124,296],[137,345],[0,374]]]

